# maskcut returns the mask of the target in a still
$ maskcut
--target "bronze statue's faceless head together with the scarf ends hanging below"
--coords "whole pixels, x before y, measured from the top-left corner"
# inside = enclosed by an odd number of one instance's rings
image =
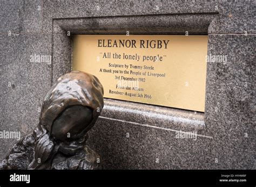
[[[44,98],[29,169],[40,167],[58,152],[73,155],[85,146],[86,133],[103,109],[103,94],[98,78],[82,71],[58,79]]]

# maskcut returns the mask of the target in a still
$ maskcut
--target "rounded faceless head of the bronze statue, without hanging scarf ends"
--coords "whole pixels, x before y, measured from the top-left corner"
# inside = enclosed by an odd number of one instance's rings
[[[72,71],[58,79],[45,96],[41,124],[61,141],[79,139],[95,124],[103,108],[97,77]]]

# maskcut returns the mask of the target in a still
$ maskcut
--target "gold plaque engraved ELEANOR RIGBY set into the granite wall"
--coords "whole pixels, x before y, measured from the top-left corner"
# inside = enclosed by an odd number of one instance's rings
[[[104,97],[204,112],[207,35],[75,35],[72,70]]]

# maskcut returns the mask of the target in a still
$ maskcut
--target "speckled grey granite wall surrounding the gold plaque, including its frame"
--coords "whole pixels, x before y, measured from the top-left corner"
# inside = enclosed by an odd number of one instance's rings
[[[188,31],[208,34],[208,55],[227,55],[207,62],[205,113],[105,99],[88,143],[105,169],[256,168],[255,1],[4,0],[0,7],[0,131],[35,128],[45,93],[71,70],[73,34]],[[196,131],[197,140],[177,139],[179,131]],[[0,159],[15,141],[0,139]]]

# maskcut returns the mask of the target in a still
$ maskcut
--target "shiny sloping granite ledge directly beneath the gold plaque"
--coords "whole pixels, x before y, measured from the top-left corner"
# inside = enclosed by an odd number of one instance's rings
[[[107,98],[104,99],[104,108],[99,118],[174,132],[201,131],[205,128],[202,112]]]

